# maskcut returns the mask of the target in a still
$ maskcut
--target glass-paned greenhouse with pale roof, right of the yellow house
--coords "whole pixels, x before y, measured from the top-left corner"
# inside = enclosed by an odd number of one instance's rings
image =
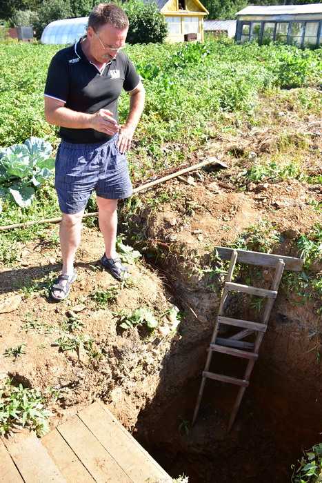
[[[322,3],[249,6],[237,13],[236,41],[279,41],[295,46],[322,43]]]

